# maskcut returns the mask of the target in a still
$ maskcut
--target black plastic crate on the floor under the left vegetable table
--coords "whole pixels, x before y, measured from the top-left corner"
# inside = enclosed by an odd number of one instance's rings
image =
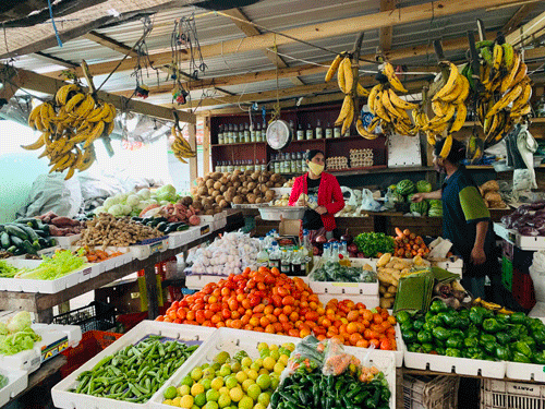
[[[80,325],[82,333],[87,330],[107,330],[116,326],[116,309],[93,301],[87,306],[72,310],[53,317],[53,324]]]

